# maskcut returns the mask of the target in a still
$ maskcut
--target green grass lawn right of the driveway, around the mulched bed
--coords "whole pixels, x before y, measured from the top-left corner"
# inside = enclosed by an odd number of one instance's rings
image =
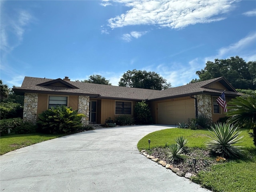
[[[205,188],[216,192],[254,192],[256,191],[256,148],[252,138],[249,136],[249,130],[242,129],[240,135],[244,135],[244,157],[238,160],[227,160],[222,164],[214,165],[210,171],[199,172],[192,180]],[[190,130],[171,128],[152,132],[146,135],[138,142],[138,149],[148,149],[148,140],[150,139],[150,148],[165,147],[166,143],[175,143],[174,139],[178,136],[184,136],[188,139],[189,148],[205,149],[204,143],[208,140],[208,130]]]

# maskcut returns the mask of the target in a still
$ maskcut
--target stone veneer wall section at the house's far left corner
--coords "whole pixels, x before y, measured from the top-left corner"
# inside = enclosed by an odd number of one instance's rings
[[[23,120],[36,123],[37,114],[37,93],[25,93],[24,95],[24,109],[23,109]]]

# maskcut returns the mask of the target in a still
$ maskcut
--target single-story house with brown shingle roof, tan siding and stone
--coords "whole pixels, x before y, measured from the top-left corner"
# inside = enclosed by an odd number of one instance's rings
[[[83,124],[104,124],[107,118],[114,120],[122,114],[134,115],[136,102],[146,100],[150,104],[153,122],[178,124],[188,118],[204,114],[216,122],[224,117],[223,108],[216,98],[225,90],[226,101],[240,96],[223,77],[169,88],[149,90],[64,79],[25,77],[21,87],[13,88],[24,95],[25,121],[36,122],[38,114],[57,105],[66,105],[83,113]]]

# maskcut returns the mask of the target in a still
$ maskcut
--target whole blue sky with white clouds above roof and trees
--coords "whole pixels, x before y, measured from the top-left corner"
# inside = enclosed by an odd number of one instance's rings
[[[256,60],[254,0],[0,1],[0,78],[84,80],[118,85],[128,70],[187,84],[206,61]]]

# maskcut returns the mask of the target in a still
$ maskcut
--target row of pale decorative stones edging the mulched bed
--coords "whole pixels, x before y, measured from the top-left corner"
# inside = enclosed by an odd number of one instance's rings
[[[178,176],[180,176],[180,177],[185,177],[185,178],[188,178],[188,179],[191,180],[191,177],[196,176],[196,175],[191,174],[191,173],[186,173],[186,174],[185,174],[183,171],[180,171],[179,168],[173,167],[173,165],[168,164],[168,163],[166,163],[166,162],[163,161],[163,160],[160,160],[160,159],[158,159],[158,158],[155,158],[155,157],[152,156],[152,155],[147,154],[147,153],[146,153],[146,150],[141,150],[141,151],[140,151],[140,154],[143,154],[143,155],[146,156],[148,159],[151,159],[152,161],[154,161],[154,162],[156,162],[156,163],[162,165],[162,166],[165,167],[166,169],[172,170],[172,172],[176,173],[176,175],[178,175]]]

